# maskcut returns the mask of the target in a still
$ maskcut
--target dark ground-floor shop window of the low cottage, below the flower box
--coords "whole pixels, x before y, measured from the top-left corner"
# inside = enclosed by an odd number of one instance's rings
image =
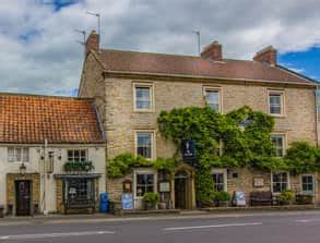
[[[94,180],[86,178],[68,179],[64,181],[64,199],[94,199]]]

